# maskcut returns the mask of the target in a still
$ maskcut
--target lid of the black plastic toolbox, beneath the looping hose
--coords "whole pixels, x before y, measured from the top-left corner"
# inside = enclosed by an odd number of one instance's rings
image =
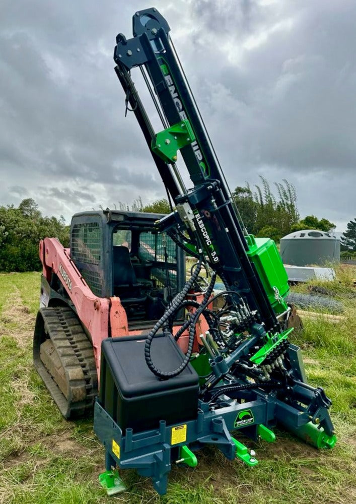
[[[145,360],[143,336],[105,338],[102,358],[111,368],[113,380],[123,397],[137,397],[182,387],[198,388],[199,376],[193,367],[187,367],[174,378],[160,380],[153,374]],[[157,334],[151,345],[151,357],[162,371],[173,371],[183,361],[184,354],[171,336]]]

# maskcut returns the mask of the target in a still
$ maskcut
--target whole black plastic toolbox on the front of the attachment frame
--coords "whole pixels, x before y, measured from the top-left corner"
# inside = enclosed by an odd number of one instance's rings
[[[184,354],[171,336],[156,335],[153,363],[162,371],[176,369]],[[188,366],[174,378],[160,380],[147,366],[145,338],[106,338],[101,346],[99,400],[121,430],[134,432],[174,424],[197,416],[199,377]],[[124,433],[124,432],[123,432]]]

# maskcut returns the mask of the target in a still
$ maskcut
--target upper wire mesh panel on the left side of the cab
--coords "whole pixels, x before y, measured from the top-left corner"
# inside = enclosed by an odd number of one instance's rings
[[[75,224],[73,226],[70,253],[75,261],[99,265],[101,249],[102,233],[97,222]]]

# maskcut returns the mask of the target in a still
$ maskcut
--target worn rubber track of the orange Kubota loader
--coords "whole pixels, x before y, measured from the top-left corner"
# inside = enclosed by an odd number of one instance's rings
[[[90,415],[98,395],[98,377],[92,343],[75,312],[69,307],[41,308],[44,330],[56,349],[68,382],[68,399],[40,359],[40,342],[34,348],[34,363],[53,400],[67,419]],[[43,340],[42,340],[43,342]],[[83,371],[83,375],[81,371]],[[77,374],[77,376],[75,376]],[[78,375],[82,375],[78,378]]]

